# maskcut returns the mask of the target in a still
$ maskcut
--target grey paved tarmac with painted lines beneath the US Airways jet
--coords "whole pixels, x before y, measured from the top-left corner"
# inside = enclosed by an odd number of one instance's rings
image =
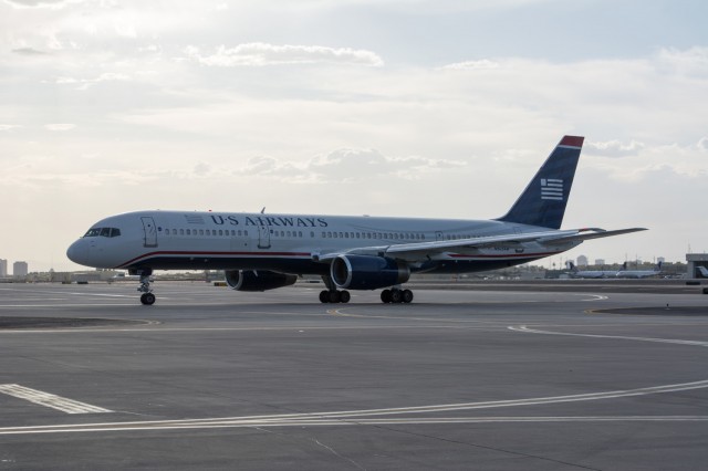
[[[523,286],[0,285],[0,470],[705,469],[704,286]]]

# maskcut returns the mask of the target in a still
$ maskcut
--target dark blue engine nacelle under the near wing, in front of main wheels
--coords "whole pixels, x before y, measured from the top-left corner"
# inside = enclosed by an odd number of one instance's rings
[[[410,269],[404,262],[373,255],[339,255],[332,261],[330,274],[337,287],[376,290],[405,283]]]

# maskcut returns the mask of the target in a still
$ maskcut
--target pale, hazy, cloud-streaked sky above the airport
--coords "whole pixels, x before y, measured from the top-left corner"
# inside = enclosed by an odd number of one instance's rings
[[[702,0],[0,0],[0,258],[144,209],[489,219],[585,136],[546,262],[708,250]]]

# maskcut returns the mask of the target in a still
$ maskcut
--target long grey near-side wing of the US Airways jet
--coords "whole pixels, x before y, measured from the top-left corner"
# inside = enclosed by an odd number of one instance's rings
[[[522,248],[528,243],[538,243],[544,247],[562,247],[574,242],[582,242],[589,239],[600,239],[626,234],[631,232],[645,231],[645,228],[620,229],[606,231],[598,228],[572,229],[572,230],[549,230],[539,232],[513,233],[503,236],[490,236],[472,239],[440,240],[433,242],[399,243],[394,245],[373,245],[351,249],[336,253],[326,253],[316,257],[317,261],[326,262],[337,255],[360,254],[379,255],[407,261],[418,261],[430,259],[445,252],[469,252],[477,249],[491,247]]]

